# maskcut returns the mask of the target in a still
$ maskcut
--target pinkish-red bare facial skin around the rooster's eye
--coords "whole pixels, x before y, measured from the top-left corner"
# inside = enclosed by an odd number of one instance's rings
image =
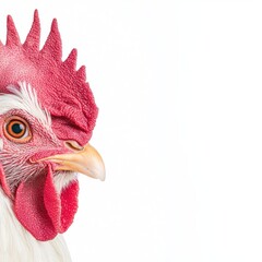
[[[24,129],[21,138],[17,124],[21,126],[21,130]],[[0,127],[2,139],[0,163],[12,194],[21,181],[38,176],[45,170],[47,162],[37,160],[55,154],[70,153],[64,143],[56,138],[50,127],[45,127],[25,111],[11,110],[1,116]],[[12,133],[12,129],[15,131],[15,128],[16,135]],[[59,174],[56,171],[55,177]],[[68,177],[74,179],[75,176],[68,171]],[[68,177],[64,176],[64,184],[69,182]]]

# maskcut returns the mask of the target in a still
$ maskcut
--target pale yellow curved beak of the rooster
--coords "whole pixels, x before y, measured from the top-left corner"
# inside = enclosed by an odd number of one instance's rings
[[[82,151],[53,155],[41,160],[46,159],[59,164],[56,166],[56,170],[76,171],[102,181],[106,178],[104,162],[99,153],[90,144],[86,144]]]

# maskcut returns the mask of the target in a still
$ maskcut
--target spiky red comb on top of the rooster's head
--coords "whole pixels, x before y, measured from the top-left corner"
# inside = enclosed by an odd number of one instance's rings
[[[0,43],[0,92],[10,84],[29,83],[52,117],[52,128],[59,139],[85,144],[95,127],[97,107],[86,83],[85,67],[78,71],[76,49],[62,61],[61,37],[57,20],[39,50],[40,23],[37,10],[33,25],[21,44],[12,17],[8,16],[7,44]]]

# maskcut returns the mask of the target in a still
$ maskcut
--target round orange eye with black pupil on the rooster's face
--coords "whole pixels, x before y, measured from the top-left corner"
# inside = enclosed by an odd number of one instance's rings
[[[32,139],[29,124],[17,116],[5,120],[3,133],[8,140],[17,143],[26,143]]]

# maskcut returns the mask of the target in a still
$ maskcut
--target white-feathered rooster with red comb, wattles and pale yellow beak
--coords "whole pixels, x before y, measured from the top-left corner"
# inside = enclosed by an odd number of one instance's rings
[[[88,144],[97,107],[76,50],[61,60],[53,20],[39,50],[37,11],[21,44],[11,16],[0,43],[0,261],[71,261],[62,238],[78,210],[78,172],[100,180]]]

